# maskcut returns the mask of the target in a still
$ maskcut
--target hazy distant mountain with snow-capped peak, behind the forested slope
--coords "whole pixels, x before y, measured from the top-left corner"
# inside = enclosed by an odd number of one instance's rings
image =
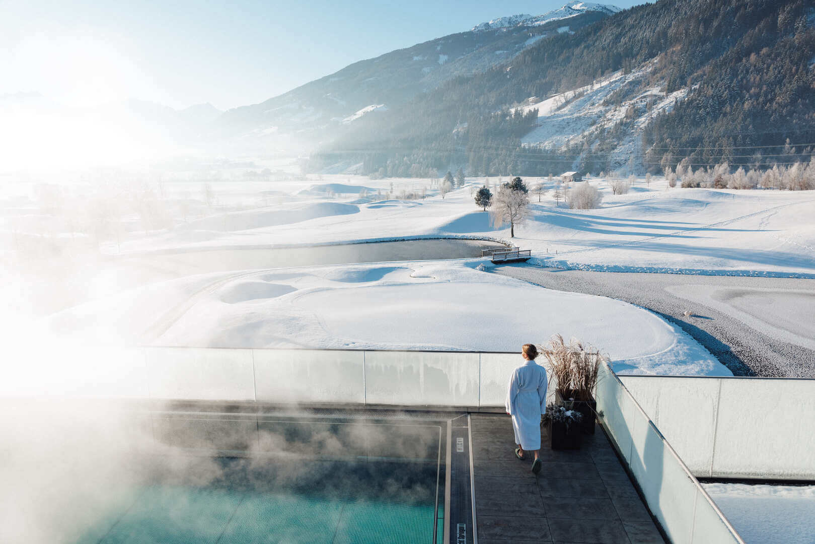
[[[477,32],[451,34],[360,60],[261,104],[231,109],[218,118],[216,130],[218,136],[240,140],[242,146],[313,148],[371,111],[399,107],[456,77],[504,64],[544,38],[560,36],[564,31],[558,21],[564,17],[569,17],[573,32],[616,10],[571,2],[548,14],[514,15],[500,23],[491,21],[489,28],[478,25]]]

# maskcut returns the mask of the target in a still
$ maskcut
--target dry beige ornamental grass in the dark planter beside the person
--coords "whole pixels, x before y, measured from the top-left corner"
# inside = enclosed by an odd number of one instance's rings
[[[577,338],[571,338],[566,343],[560,334],[553,335],[541,353],[548,360],[552,375],[557,379],[557,388],[566,398],[593,398],[600,365],[609,361],[608,356],[602,355],[595,347],[584,345]]]

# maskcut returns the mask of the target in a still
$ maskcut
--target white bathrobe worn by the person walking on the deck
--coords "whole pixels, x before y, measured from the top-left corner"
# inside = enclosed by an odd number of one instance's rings
[[[509,378],[506,409],[512,415],[515,444],[540,449],[540,416],[546,413],[546,369],[527,360]]]

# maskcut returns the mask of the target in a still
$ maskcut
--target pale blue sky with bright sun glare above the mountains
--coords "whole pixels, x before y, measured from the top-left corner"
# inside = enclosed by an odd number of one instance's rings
[[[357,60],[564,3],[0,0],[0,95],[234,108]]]

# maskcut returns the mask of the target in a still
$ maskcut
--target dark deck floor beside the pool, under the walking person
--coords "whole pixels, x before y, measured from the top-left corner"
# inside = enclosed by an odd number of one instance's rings
[[[509,416],[470,418],[479,544],[664,544],[599,427],[575,451],[550,449],[544,433],[535,477],[531,460],[514,456]]]

